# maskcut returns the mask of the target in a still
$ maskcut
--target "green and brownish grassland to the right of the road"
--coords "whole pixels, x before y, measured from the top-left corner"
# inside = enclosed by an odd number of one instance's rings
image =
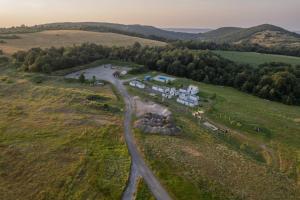
[[[297,199],[299,107],[185,79],[177,79],[173,86],[191,83],[200,87],[202,100],[208,100],[201,108],[206,116],[240,135],[220,137],[202,128],[191,115],[194,109],[174,101],[162,103],[173,112],[182,134],[168,137],[136,130],[135,135],[146,160],[174,199]],[[133,95],[161,102],[161,98],[128,88]],[[218,118],[223,113],[227,114],[225,121]],[[263,152],[263,145],[270,152]],[[261,156],[272,161],[261,160]]]

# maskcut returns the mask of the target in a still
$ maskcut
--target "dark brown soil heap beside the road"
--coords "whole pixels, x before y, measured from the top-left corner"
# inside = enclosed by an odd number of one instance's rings
[[[161,135],[178,135],[179,128],[176,127],[171,116],[146,113],[135,124],[136,128],[141,129],[145,133],[161,134]]]

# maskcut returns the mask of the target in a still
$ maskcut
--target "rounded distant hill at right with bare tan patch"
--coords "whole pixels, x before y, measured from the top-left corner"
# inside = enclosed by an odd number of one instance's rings
[[[299,46],[300,35],[287,31],[281,27],[263,24],[251,28],[225,27],[204,33],[199,40],[217,43],[249,43],[265,47]]]

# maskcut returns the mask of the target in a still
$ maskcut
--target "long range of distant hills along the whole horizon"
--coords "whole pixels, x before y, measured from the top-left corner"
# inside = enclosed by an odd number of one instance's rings
[[[223,27],[207,29],[160,29],[144,25],[124,25],[102,22],[64,22],[0,29],[0,33],[33,32],[42,30],[76,29],[97,32],[114,32],[155,40],[198,40],[216,43],[259,44],[265,47],[300,47],[300,35],[281,27],[263,24],[251,28]],[[200,32],[200,33],[198,33]]]

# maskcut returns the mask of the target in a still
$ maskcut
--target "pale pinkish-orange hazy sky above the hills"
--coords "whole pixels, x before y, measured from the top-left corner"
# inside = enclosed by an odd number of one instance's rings
[[[66,21],[300,30],[300,0],[0,0],[0,27]]]

